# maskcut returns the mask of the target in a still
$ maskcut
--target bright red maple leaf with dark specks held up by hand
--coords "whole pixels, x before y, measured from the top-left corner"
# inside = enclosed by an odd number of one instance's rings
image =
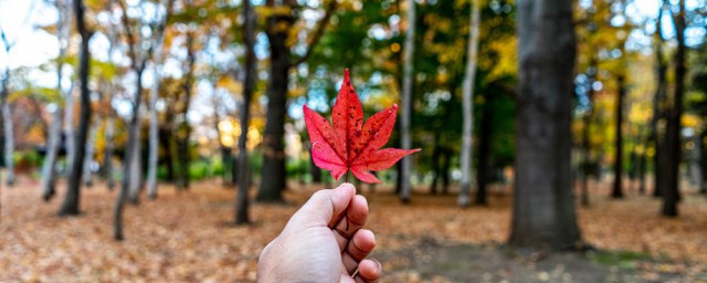
[[[312,142],[314,164],[331,170],[331,177],[339,180],[351,170],[361,181],[380,182],[369,170],[383,170],[400,158],[420,151],[399,148],[380,149],[390,137],[395,125],[398,105],[376,113],[363,123],[363,109],[349,81],[349,70],[344,73],[344,83],[331,111],[329,122],[304,105],[305,124]]]

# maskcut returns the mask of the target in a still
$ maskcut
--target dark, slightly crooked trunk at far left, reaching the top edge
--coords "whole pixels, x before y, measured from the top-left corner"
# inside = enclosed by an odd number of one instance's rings
[[[78,78],[81,81],[81,116],[78,120],[78,135],[76,136],[74,161],[71,163],[68,174],[68,186],[66,198],[59,210],[60,216],[78,214],[81,199],[81,174],[83,172],[83,160],[86,150],[86,136],[88,134],[88,123],[91,120],[91,93],[88,92],[88,67],[89,56],[88,41],[92,31],[88,31],[84,22],[83,0],[74,0],[74,14],[76,18],[76,30],[81,34],[81,56],[78,61]]]

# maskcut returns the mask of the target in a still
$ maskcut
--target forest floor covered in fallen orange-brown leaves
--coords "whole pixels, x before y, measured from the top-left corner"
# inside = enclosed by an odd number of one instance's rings
[[[116,242],[117,190],[85,189],[83,213],[59,218],[62,199],[44,203],[38,187],[23,179],[0,192],[0,282],[252,282],[262,248],[316,190],[291,184],[288,205],[255,203],[253,224],[234,227],[234,190],[163,185],[156,201],[127,206],[126,240]],[[359,192],[370,203],[382,282],[707,282],[707,197],[685,192],[680,217],[667,219],[659,200],[633,191],[611,200],[605,187],[594,185],[592,206],[578,209],[583,239],[597,248],[585,253],[505,248],[508,189],[468,209],[454,195],[419,191],[402,205],[390,188]]]

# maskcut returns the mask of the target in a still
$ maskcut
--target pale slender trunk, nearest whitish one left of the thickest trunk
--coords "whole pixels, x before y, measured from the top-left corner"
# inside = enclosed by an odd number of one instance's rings
[[[474,151],[474,80],[476,77],[476,53],[478,53],[479,0],[472,1],[468,45],[466,48],[466,74],[462,86],[464,125],[462,129],[462,184],[457,205],[467,207],[472,187],[472,158]]]

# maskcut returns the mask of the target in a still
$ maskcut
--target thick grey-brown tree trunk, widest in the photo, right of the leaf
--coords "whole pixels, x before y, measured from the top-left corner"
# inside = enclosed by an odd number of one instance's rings
[[[571,184],[572,1],[518,3],[516,179],[509,244],[570,249],[580,241]]]

